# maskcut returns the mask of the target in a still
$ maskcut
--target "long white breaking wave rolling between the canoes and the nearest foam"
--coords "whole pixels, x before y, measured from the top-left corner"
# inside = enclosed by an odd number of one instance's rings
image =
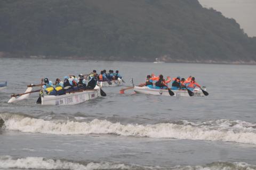
[[[0,114],[1,117],[1,114]],[[256,145],[256,125],[244,121],[178,121],[158,124],[121,124],[94,119],[90,122],[46,121],[22,115],[4,115],[3,128],[47,134],[117,134],[133,137],[229,141]]]

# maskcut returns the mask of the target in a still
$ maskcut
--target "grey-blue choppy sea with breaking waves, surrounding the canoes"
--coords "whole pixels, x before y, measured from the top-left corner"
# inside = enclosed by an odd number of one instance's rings
[[[119,70],[130,86],[150,73],[193,75],[207,97],[132,94],[75,106],[7,104],[41,78]],[[0,59],[0,169],[256,169],[254,65]],[[37,88],[35,88],[37,89]]]

